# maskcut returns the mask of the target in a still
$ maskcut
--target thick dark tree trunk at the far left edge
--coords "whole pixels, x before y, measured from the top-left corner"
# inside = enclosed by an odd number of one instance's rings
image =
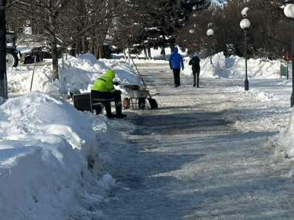
[[[6,0],[0,0],[0,6],[5,6]],[[0,96],[8,98],[6,76],[6,22],[5,10],[0,10]]]

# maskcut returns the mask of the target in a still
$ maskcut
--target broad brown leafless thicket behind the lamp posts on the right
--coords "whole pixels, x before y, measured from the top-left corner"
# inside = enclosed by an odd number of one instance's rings
[[[240,22],[244,19],[241,10],[248,7],[246,18],[250,20],[251,26],[248,29],[247,52],[251,56],[263,51],[281,57],[287,50],[285,45],[261,35],[266,34],[290,44],[290,31],[286,31],[290,29],[290,24],[281,6],[283,0],[227,1],[224,7],[212,5],[190,17],[190,23],[179,34],[179,44],[193,52],[209,52],[210,41],[206,33],[211,24],[214,29],[214,52],[244,56],[244,31]]]

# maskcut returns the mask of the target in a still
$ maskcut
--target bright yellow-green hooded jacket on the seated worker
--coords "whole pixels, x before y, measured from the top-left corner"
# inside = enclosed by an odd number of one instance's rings
[[[99,77],[92,86],[92,90],[96,91],[109,91],[111,93],[115,92],[116,89],[113,87],[113,79],[116,78],[116,73],[114,71],[106,71],[104,75]]]

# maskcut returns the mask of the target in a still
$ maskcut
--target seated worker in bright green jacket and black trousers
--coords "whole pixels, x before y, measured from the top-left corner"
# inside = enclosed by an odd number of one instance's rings
[[[116,78],[116,73],[109,70],[104,73],[101,77],[95,80],[94,85],[91,89],[92,98],[115,98],[116,103],[116,115],[111,113],[111,103],[105,103],[106,117],[116,117],[123,118],[127,115],[122,114],[122,101],[121,101],[121,91],[116,90],[113,86],[113,79]],[[115,85],[118,83],[114,82]],[[95,109],[96,106],[94,106]]]

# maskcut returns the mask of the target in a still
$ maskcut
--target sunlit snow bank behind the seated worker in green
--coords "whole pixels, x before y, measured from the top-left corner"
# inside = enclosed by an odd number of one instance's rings
[[[65,59],[65,57],[64,57]],[[37,66],[31,91],[43,91],[66,98],[69,91],[79,89],[81,93],[90,92],[94,81],[113,69],[115,80],[120,82],[116,89],[123,89],[124,85],[142,85],[139,75],[134,72],[132,65],[120,60],[97,60],[91,53],[81,54],[79,57],[67,56],[62,68],[59,59],[59,80],[52,82],[52,65]],[[28,93],[33,74],[32,66],[18,66],[8,70],[8,92]]]

